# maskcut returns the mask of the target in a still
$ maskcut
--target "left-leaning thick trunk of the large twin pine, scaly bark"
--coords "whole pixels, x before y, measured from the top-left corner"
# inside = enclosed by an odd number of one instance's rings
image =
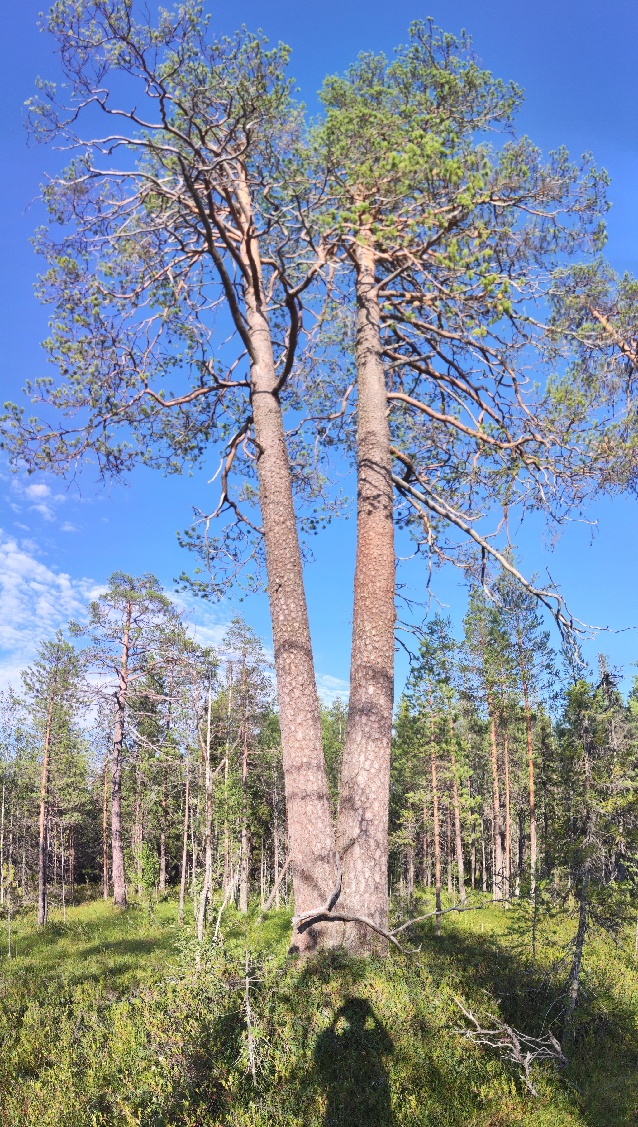
[[[244,220],[250,225],[248,192],[240,186],[239,194]],[[259,498],[293,852],[295,912],[299,913],[324,903],[334,887],[334,829],[290,469],[277,390],[278,376],[261,292],[261,264],[252,232],[250,247],[251,258],[246,260],[246,267],[253,278],[253,289],[246,289],[246,320],[253,349],[251,402],[259,452]],[[335,939],[330,924],[316,924],[302,933],[295,929],[291,950],[312,950],[320,942],[331,943]]]

